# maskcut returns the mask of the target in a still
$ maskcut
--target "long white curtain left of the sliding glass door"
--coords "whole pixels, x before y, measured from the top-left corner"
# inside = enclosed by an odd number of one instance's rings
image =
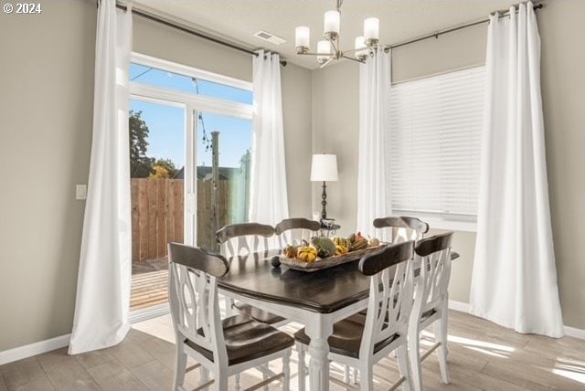
[[[128,68],[132,13],[101,0],[93,138],[69,354],[112,346],[128,330],[131,279]]]

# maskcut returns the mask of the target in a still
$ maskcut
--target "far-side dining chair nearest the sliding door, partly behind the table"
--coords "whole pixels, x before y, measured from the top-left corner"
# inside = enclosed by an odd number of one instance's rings
[[[268,250],[270,248],[269,238],[273,235],[274,228],[272,226],[259,223],[240,223],[219,229],[216,238],[220,245],[221,254],[231,258],[242,253],[250,254]],[[227,307],[228,313],[231,313],[231,309],[235,308],[258,322],[271,325],[281,325],[280,323],[286,322],[281,316],[253,307],[250,304],[229,300]]]

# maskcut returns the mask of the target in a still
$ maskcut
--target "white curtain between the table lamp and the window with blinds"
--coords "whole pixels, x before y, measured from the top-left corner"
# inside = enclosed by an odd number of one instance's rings
[[[378,48],[359,66],[359,155],[357,163],[357,230],[385,238],[372,222],[391,214],[389,170],[390,53]]]

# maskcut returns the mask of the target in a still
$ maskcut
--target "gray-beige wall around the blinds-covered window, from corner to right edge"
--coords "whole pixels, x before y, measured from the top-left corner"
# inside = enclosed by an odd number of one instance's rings
[[[542,89],[546,126],[548,185],[558,269],[558,287],[566,325],[585,329],[585,13],[581,0],[547,2],[537,12],[542,40]],[[398,48],[392,53],[394,82],[483,64],[486,25]],[[344,231],[356,226],[358,68],[343,62],[313,75],[314,152],[337,153],[339,182],[330,185],[331,217]],[[320,190],[314,186],[313,207]],[[433,231],[437,232],[437,231]],[[431,232],[431,233],[433,233]],[[469,301],[475,234],[457,232],[453,248],[451,299]]]

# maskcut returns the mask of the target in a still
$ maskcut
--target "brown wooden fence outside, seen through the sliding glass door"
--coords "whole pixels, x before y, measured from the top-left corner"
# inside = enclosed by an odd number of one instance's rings
[[[184,242],[183,179],[132,178],[132,261],[166,257],[166,244]],[[197,180],[197,246],[216,248],[213,183]],[[218,227],[234,221],[232,184],[218,181]],[[236,217],[237,218],[237,217]]]

